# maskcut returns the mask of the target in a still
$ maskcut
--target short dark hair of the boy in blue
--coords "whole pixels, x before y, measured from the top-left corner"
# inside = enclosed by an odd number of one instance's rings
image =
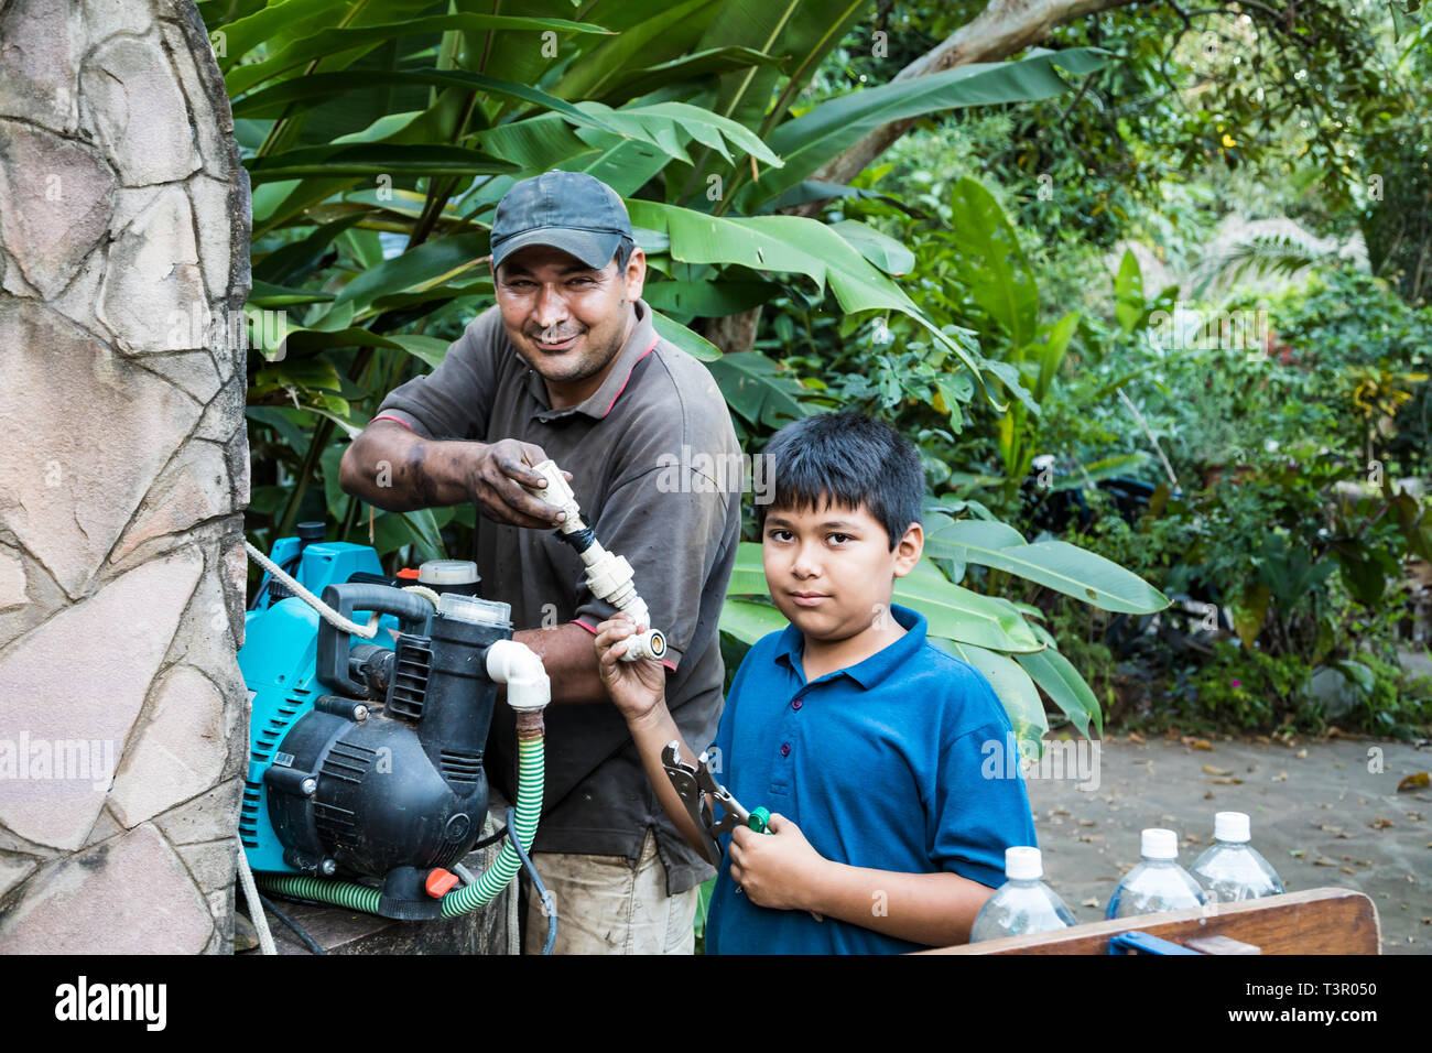
[[[822,413],[786,424],[766,444],[775,496],[756,504],[766,530],[772,509],[806,511],[831,504],[865,507],[885,527],[891,552],[921,521],[925,468],[915,447],[889,424],[862,413]]]

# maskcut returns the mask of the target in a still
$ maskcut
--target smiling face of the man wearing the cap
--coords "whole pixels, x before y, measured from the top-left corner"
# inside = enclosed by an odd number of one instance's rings
[[[561,249],[528,245],[497,268],[497,308],[528,365],[548,383],[580,384],[621,350],[644,277],[642,249],[623,269],[616,261],[593,269]]]

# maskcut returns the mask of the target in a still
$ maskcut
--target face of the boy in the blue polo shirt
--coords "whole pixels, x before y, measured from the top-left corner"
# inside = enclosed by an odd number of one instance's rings
[[[885,527],[861,509],[772,509],[760,539],[770,599],[806,636],[835,643],[881,632],[891,590],[919,562],[924,532],[911,523],[891,552]],[[882,617],[885,615],[885,617]]]

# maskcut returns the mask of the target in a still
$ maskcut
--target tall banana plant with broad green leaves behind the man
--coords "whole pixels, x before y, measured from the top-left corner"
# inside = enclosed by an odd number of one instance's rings
[[[1065,89],[1055,66],[1080,73],[1104,60],[1080,49],[1035,54],[859,92],[849,112],[838,99],[793,116],[819,63],[874,3],[200,0],[198,9],[253,185],[249,307],[286,314],[265,354],[251,355],[255,440],[282,466],[255,480],[261,544],[305,514],[337,520],[339,537],[359,534],[364,509],[326,468],[382,394],[441,361],[461,321],[491,302],[491,212],[514,181],[584,170],[626,196],[659,331],[712,361],[733,407],[756,403],[768,421],[782,420],[805,411],[789,378],[755,352],[717,362],[692,331],[696,319],[829,291],[846,315],[898,311],[931,324],[872,239],[756,213],[843,149],[841,125],[1047,97]],[[703,222],[716,223],[716,236],[703,235]],[[969,390],[982,388],[972,340],[932,338],[974,380]],[[291,441],[296,433],[309,441]],[[441,527],[471,514],[367,513],[381,552],[411,544],[417,554],[441,552]]]

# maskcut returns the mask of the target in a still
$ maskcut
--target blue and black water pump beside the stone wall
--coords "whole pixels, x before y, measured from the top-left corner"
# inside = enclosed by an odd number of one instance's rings
[[[450,868],[487,817],[497,686],[536,715],[540,741],[541,663],[513,642],[508,605],[467,596],[461,582],[404,590],[385,583],[372,549],[302,536],[274,557],[337,617],[278,582],[248,616],[239,666],[253,712],[239,837],[259,885],[322,901],[332,898],[312,893],[347,890],[392,918],[451,917]],[[339,628],[358,612],[378,630],[372,642]],[[278,875],[308,881],[281,887]]]

